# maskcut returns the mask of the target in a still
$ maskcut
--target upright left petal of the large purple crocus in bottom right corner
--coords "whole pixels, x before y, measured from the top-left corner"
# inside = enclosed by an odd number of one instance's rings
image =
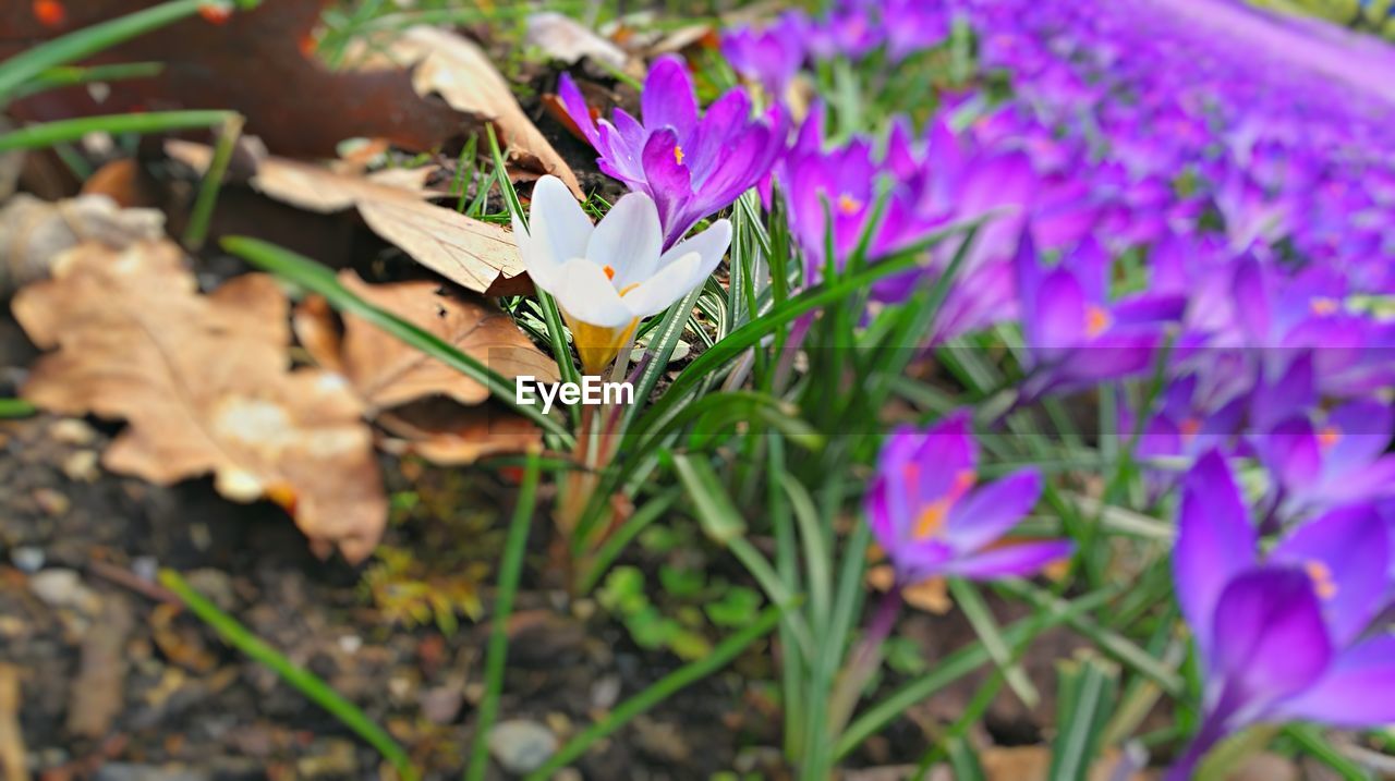
[[[1183,480],[1172,576],[1182,615],[1202,655],[1211,649],[1211,615],[1226,583],[1254,562],[1258,536],[1218,450],[1201,456]]]

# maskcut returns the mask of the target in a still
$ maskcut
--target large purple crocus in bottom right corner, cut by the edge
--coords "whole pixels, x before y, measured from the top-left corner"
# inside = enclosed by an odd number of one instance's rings
[[[1368,505],[1300,526],[1267,556],[1218,452],[1187,474],[1173,579],[1204,671],[1202,722],[1168,774],[1187,781],[1228,735],[1310,720],[1395,721],[1395,635],[1368,633],[1389,587],[1389,537]]]

